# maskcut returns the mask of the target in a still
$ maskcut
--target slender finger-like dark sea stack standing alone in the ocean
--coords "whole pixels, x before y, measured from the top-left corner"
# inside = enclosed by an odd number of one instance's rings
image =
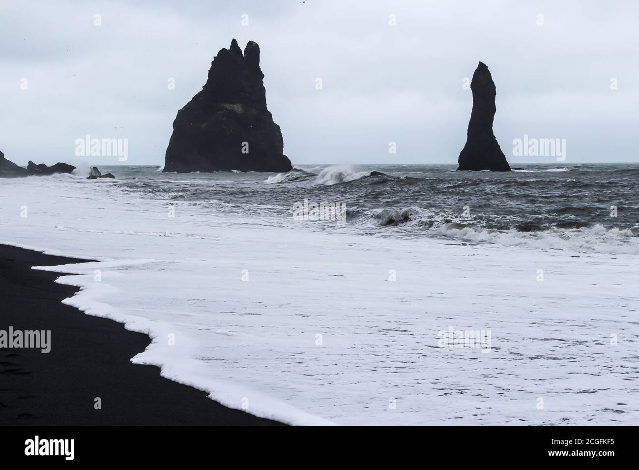
[[[480,62],[475,69],[470,90],[473,92],[473,111],[468,122],[466,145],[459,153],[458,171],[511,171],[493,134],[497,90],[486,64]]]

